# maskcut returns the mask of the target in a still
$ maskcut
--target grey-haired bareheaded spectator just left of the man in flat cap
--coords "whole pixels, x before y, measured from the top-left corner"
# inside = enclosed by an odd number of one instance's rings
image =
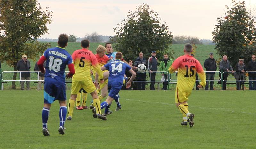
[[[234,73],[234,70],[232,66],[230,65],[230,62],[228,61],[227,55],[224,55],[222,57],[222,60],[220,61],[220,72],[229,72],[231,70],[232,73]],[[227,78],[228,78],[228,73],[223,73],[223,85],[222,85],[222,90],[226,90],[227,86]]]

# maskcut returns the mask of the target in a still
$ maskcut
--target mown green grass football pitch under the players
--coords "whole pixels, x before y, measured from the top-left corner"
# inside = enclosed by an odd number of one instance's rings
[[[192,128],[180,125],[174,91],[121,91],[120,111],[102,121],[94,119],[91,110],[74,110],[64,136],[58,133],[59,104],[54,102],[50,137],[41,132],[43,91],[0,94],[0,148],[255,148],[253,91],[192,91],[188,101],[195,114]],[[115,108],[113,103],[110,109]]]

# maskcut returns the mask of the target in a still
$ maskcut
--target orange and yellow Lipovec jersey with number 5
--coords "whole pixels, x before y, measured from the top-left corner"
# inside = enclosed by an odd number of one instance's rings
[[[99,74],[99,79],[103,78],[97,58],[92,51],[85,48],[76,50],[72,54],[72,59],[75,67],[75,74],[72,80],[80,81],[91,78],[91,66]]]

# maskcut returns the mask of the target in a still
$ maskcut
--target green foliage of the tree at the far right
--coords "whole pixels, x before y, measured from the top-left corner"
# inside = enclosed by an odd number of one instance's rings
[[[256,31],[255,21],[248,16],[244,1],[232,0],[233,7],[227,7],[224,18],[217,18],[218,23],[212,32],[215,49],[220,56],[227,55],[232,65],[243,58],[247,63],[255,54]]]

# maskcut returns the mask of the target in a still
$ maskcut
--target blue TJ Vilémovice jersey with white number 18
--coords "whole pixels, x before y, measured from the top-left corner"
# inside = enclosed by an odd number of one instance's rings
[[[44,51],[46,57],[45,81],[65,83],[65,69],[72,63],[71,55],[61,47],[49,48]]]

